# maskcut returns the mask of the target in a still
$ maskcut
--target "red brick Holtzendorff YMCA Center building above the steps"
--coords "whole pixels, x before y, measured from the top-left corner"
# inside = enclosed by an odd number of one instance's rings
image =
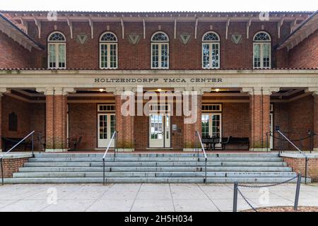
[[[118,148],[191,150],[199,131],[269,150],[275,126],[318,133],[317,11],[260,15],[1,11],[0,136],[104,150],[118,131]],[[146,92],[182,99],[147,105]],[[149,115],[123,115],[123,93]],[[187,93],[192,123],[175,113]]]

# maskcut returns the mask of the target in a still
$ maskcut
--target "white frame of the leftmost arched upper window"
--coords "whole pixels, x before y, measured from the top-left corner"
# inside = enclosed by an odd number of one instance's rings
[[[61,35],[63,35],[64,37],[64,41],[51,41],[49,40],[49,38],[55,34],[55,33],[59,33]],[[49,66],[49,49],[50,49],[50,46],[53,45],[54,46],[54,49],[55,49],[55,66]],[[63,45],[64,46],[64,66],[63,67],[60,67],[59,66],[59,45]],[[66,37],[65,35],[62,33],[62,32],[59,32],[59,31],[54,31],[52,32],[51,34],[49,34],[49,37],[47,37],[47,68],[48,69],[66,69]]]

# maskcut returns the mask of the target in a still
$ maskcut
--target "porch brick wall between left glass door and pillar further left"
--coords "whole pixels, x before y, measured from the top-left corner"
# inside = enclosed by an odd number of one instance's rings
[[[97,148],[97,113],[95,103],[69,104],[69,138],[82,136],[80,150]],[[70,148],[73,148],[71,145]]]

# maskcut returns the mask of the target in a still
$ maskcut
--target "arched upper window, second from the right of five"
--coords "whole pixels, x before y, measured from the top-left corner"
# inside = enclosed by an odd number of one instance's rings
[[[202,68],[220,68],[220,37],[216,32],[206,32],[202,37]]]

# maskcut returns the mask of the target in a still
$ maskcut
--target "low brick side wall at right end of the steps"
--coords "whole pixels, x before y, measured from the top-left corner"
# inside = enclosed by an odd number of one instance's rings
[[[284,162],[287,162],[293,171],[300,172],[302,177],[305,177],[305,158],[283,157]],[[307,162],[307,177],[312,181],[318,181],[318,158],[309,158]]]

